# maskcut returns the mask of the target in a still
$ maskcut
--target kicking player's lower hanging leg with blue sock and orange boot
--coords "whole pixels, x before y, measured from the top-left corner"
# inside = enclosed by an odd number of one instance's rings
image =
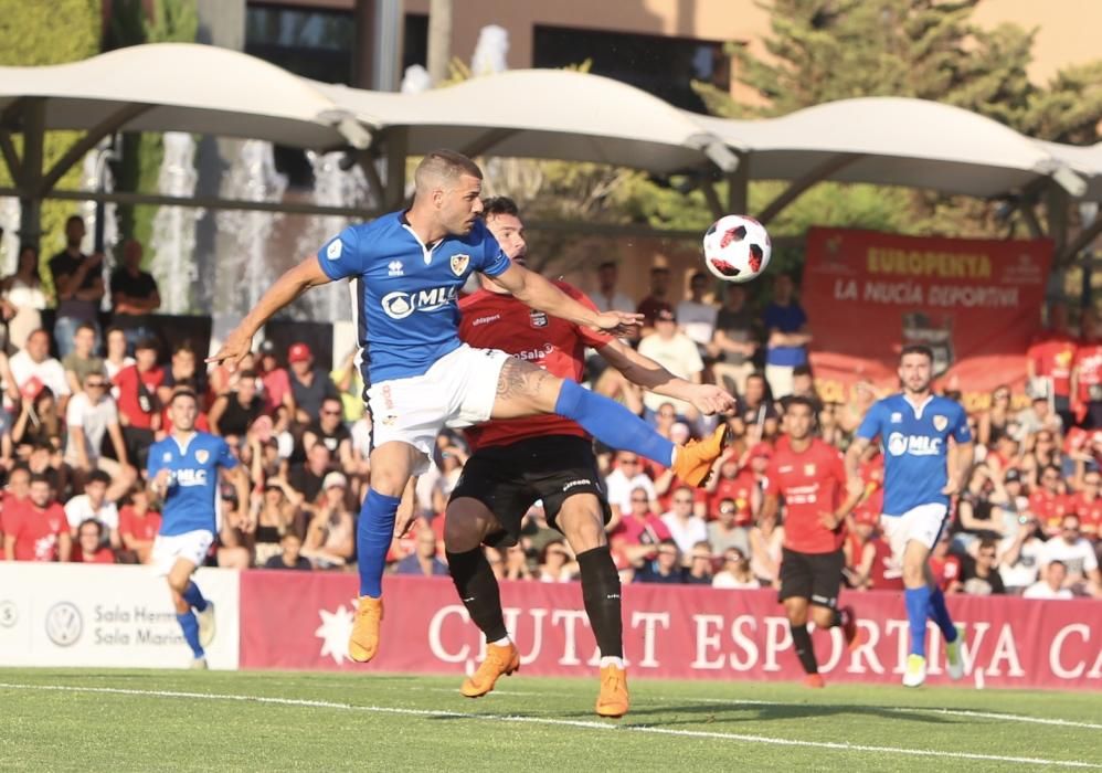
[[[383,618],[382,578],[398,507],[406,483],[427,463],[427,456],[409,443],[390,441],[372,449],[370,460],[371,485],[363,498],[356,530],[360,597],[348,640],[348,655],[357,663],[367,663],[379,649],[379,628]]]

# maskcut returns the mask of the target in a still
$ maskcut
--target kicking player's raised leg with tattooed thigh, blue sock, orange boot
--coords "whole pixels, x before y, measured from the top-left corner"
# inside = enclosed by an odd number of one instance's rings
[[[491,416],[519,419],[540,413],[558,413],[572,419],[612,448],[632,451],[672,467],[674,473],[690,486],[704,483],[712,464],[723,452],[723,424],[702,442],[676,445],[619,403],[530,362],[509,358],[498,377]]]

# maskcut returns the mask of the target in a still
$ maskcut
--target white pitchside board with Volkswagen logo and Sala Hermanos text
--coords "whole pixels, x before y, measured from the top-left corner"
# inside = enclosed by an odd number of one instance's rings
[[[239,573],[200,569],[214,602],[211,668],[237,668]],[[148,566],[0,562],[0,665],[183,668],[165,580]]]

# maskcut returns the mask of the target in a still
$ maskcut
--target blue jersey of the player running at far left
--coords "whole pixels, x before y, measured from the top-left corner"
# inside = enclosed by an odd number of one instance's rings
[[[184,445],[169,435],[149,447],[146,473],[152,480],[168,469],[168,491],[160,533],[166,537],[205,529],[218,532],[219,467],[233,469],[237,459],[224,440],[197,432]]]

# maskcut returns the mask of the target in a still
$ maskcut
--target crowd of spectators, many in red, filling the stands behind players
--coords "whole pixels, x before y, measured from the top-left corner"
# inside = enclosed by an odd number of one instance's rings
[[[167,428],[173,389],[202,395],[199,427],[226,438],[248,472],[250,500],[222,491],[222,529],[209,562],[348,571],[356,561],[356,519],[369,473],[371,419],[352,356],[335,370],[317,367],[304,342],[271,341],[234,372],[208,370],[188,342],[171,351],[152,332],[157,286],[128,243],[110,276],[112,326],[98,326],[105,294],[102,258],[81,253],[84,225],[66,227],[66,250],[47,264],[56,322],[41,326],[50,298],[38,254],[23,250],[14,275],[0,283],[7,321],[0,353],[0,469],[6,479],[0,531],[8,560],[149,561],[160,516],[144,480],[149,444]],[[617,287],[617,268],[597,271],[598,308],[638,310],[645,326],[634,346],[677,375],[714,381],[739,398],[727,421],[734,442],[703,489],[627,452],[598,448],[611,506],[608,539],[625,581],[776,586],[783,512],[759,517],[773,444],[783,431],[785,398],[818,407],[819,432],[845,448],[868,406],[882,396],[858,383],[847,403],[824,402],[808,367],[812,330],[791,277],[777,274],[772,299],[751,306],[743,285],[704,274],[686,292],[655,267],[648,295],[635,303]],[[713,300],[713,294],[717,294]],[[684,297],[682,297],[684,296]],[[1063,307],[1029,350],[1028,388],[996,389],[973,412],[976,458],[934,565],[946,592],[1019,593],[1036,597],[1102,596],[1098,570],[1102,493],[1102,338],[1085,310],[1072,335]],[[54,357],[56,352],[60,359]],[[591,358],[589,385],[635,410],[671,440],[713,426],[691,405],[643,393]],[[438,442],[436,465],[420,478],[413,528],[395,539],[392,571],[444,574],[443,512],[469,449],[462,435]],[[847,523],[850,587],[901,587],[878,528],[882,463],[863,466],[867,497]],[[487,549],[507,579],[560,582],[578,565],[537,502],[520,544]]]

